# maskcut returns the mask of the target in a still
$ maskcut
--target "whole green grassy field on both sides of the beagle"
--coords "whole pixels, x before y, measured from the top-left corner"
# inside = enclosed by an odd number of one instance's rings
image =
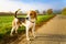
[[[25,15],[19,15],[19,16],[25,16]],[[37,15],[36,24],[40,24],[42,22],[47,21],[48,19],[53,18],[54,15]],[[13,15],[2,15],[0,16],[0,38],[3,38],[4,35],[10,35],[11,31],[11,22],[13,20]],[[19,33],[22,32],[25,28],[22,26],[19,29]]]

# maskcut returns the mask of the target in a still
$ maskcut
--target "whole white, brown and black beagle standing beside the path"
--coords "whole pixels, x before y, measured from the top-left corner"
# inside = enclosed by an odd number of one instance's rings
[[[14,20],[12,21],[12,30],[11,30],[10,35],[13,35],[13,31],[15,31],[15,33],[18,33],[19,26],[24,25],[26,29],[25,30],[26,31],[26,40],[28,41],[30,40],[30,37],[29,37],[30,29],[32,29],[32,34],[35,37],[34,30],[35,30],[35,21],[37,20],[36,12],[29,11],[26,18],[16,18],[18,11],[20,11],[20,9],[15,11]]]

